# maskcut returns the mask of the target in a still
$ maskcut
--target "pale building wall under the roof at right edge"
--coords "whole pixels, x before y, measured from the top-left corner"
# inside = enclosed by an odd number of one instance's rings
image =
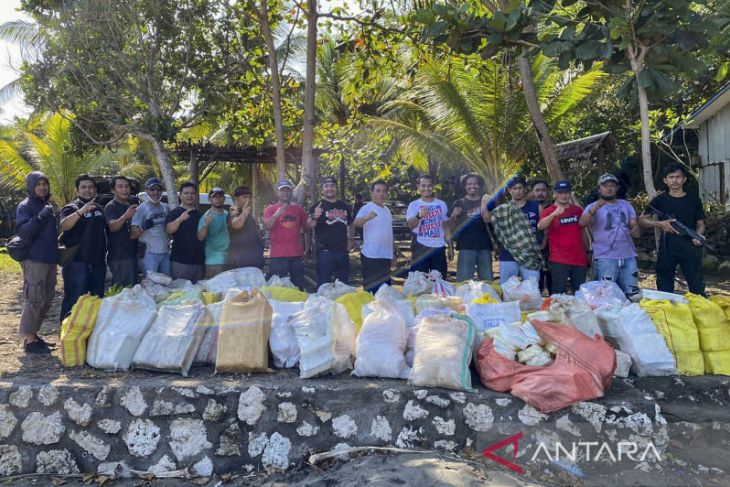
[[[730,210],[730,104],[700,125],[700,194]]]

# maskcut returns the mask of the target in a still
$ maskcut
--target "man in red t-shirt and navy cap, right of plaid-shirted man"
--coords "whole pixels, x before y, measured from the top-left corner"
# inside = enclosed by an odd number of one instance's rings
[[[547,233],[552,273],[553,292],[562,294],[568,290],[568,279],[573,292],[586,281],[588,256],[584,233],[578,224],[583,210],[571,204],[573,187],[569,181],[555,184],[555,204],[548,206],[540,215],[537,229]]]

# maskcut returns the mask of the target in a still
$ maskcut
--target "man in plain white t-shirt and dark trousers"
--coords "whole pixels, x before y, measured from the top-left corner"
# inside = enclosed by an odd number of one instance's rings
[[[375,181],[370,186],[370,201],[355,216],[355,227],[363,229],[360,248],[363,289],[374,293],[382,284],[390,284],[390,267],[395,265],[393,251],[393,217],[385,207],[388,184]]]

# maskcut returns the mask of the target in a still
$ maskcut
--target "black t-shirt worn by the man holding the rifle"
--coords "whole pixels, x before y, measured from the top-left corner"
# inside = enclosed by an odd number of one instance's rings
[[[687,225],[691,230],[697,229],[697,222],[705,219],[705,210],[702,208],[702,201],[696,194],[685,193],[681,198],[671,196],[669,193],[662,193],[655,197],[649,205],[665,213],[669,218],[676,218]],[[646,209],[647,213],[655,214],[651,208]],[[660,220],[663,218],[660,218]],[[701,252],[702,248],[692,244],[688,236],[680,236],[670,233],[662,234],[662,245],[669,254],[686,255],[688,252]]]

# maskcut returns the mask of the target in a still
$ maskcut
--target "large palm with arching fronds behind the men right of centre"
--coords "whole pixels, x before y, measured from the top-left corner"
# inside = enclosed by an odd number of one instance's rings
[[[413,88],[385,103],[367,122],[375,134],[392,136],[395,156],[417,169],[433,168],[435,160],[476,171],[496,188],[535,152],[530,117],[509,60],[469,61],[473,60],[427,60],[418,68]],[[549,126],[605,76],[597,68],[561,72],[542,55],[532,71]]]

